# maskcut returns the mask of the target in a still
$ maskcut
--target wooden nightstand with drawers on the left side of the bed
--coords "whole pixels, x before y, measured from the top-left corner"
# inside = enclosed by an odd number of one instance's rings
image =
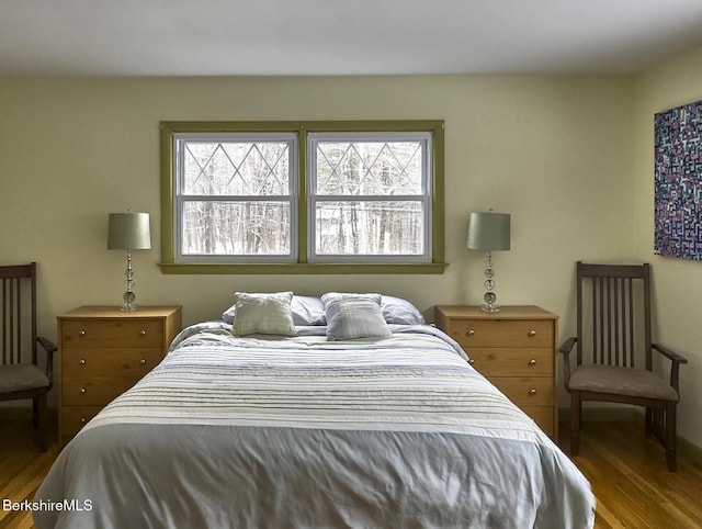
[[[58,320],[58,438],[73,437],[158,364],[181,329],[180,306],[82,306]]]

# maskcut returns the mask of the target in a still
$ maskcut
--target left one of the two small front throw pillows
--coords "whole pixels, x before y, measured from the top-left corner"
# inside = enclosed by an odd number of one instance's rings
[[[235,293],[236,309],[231,334],[235,336],[252,334],[295,336],[295,324],[290,307],[292,301],[292,292]]]

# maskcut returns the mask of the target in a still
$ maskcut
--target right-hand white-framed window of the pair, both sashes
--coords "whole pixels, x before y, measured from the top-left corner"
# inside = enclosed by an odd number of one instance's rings
[[[431,262],[428,133],[312,133],[310,261]]]

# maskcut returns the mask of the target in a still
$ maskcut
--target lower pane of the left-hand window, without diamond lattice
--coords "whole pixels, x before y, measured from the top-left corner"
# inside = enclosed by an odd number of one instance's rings
[[[185,202],[182,255],[288,256],[288,202]]]

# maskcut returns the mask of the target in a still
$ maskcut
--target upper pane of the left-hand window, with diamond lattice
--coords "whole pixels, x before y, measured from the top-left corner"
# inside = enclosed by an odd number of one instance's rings
[[[290,194],[287,142],[183,140],[182,194]]]

